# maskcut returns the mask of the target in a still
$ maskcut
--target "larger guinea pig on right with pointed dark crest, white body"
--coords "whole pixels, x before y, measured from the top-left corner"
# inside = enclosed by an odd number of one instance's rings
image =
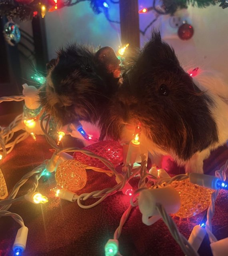
[[[100,139],[132,140],[140,122],[150,152],[202,173],[203,160],[228,139],[228,86],[209,73],[192,79],[159,32],[126,69],[100,120]]]

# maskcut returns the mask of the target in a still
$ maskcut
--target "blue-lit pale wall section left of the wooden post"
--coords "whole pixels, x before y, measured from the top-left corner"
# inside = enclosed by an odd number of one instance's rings
[[[120,20],[118,4],[110,4],[109,12],[110,18]],[[45,23],[50,59],[56,48],[68,42],[111,46],[116,50],[120,45],[120,26],[108,22],[103,13],[94,14],[87,1],[47,13]]]

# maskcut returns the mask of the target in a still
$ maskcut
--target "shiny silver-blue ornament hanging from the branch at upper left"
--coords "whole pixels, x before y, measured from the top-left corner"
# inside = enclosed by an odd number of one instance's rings
[[[3,34],[6,42],[8,42],[8,44],[11,46],[15,46],[18,44],[18,42],[20,42],[20,30],[18,26],[12,21],[9,21],[5,24]]]

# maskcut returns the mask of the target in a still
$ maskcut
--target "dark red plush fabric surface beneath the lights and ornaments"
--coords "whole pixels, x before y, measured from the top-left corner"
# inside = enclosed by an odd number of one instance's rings
[[[3,118],[5,124],[8,118]],[[11,120],[9,120],[11,121]],[[9,193],[24,174],[51,157],[50,146],[44,136],[38,136],[35,142],[27,138],[17,144],[14,150],[6,156],[0,168],[5,176]],[[226,146],[212,152],[205,161],[205,171],[214,174],[228,159]],[[166,165],[171,174],[183,172],[171,160],[166,158]],[[106,174],[87,170],[86,186],[78,192],[92,192],[116,184],[114,178]],[[12,205],[9,209],[22,216],[28,227],[28,240],[24,256],[103,256],[104,245],[119,225],[120,218],[128,208],[129,198],[118,192],[106,198],[98,206],[82,209],[78,204],[60,200],[50,191],[55,187],[54,174],[47,182],[40,179],[38,190],[48,197],[49,202],[34,205],[23,201]],[[136,186],[137,179],[132,180]],[[18,196],[26,194],[32,186],[30,179],[19,190]],[[90,199],[86,204],[92,204],[96,199]],[[194,225],[199,224],[205,212],[194,218],[184,219],[174,217],[180,232],[189,237]],[[215,215],[212,221],[214,235],[218,239],[228,237],[228,192],[220,192],[216,201]],[[0,256],[12,255],[12,245],[20,226],[11,217],[0,218]],[[119,239],[119,250],[123,256],[182,256],[184,255],[174,241],[164,222],[159,220],[152,226],[142,223],[142,214],[138,207],[132,209],[130,216],[122,229]],[[199,253],[210,256],[208,238],[204,239]]]

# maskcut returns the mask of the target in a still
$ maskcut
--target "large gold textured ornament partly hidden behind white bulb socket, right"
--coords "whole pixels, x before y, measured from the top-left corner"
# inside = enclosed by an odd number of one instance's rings
[[[180,210],[175,213],[181,218],[190,218],[203,212],[210,205],[213,190],[192,184],[189,179],[172,182],[170,185],[180,194]]]

